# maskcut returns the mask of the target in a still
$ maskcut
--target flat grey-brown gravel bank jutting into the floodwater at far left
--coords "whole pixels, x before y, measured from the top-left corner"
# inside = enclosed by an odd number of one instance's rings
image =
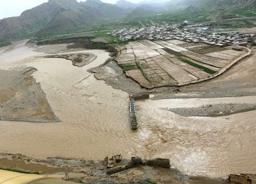
[[[31,76],[34,71],[0,70],[0,120],[59,122],[40,84]]]

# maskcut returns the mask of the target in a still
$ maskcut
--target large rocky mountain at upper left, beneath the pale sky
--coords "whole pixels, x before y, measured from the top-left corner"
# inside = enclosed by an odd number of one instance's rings
[[[121,16],[125,11],[100,0],[50,0],[21,13],[0,20],[0,40],[24,38],[37,33],[85,27],[96,19]]]

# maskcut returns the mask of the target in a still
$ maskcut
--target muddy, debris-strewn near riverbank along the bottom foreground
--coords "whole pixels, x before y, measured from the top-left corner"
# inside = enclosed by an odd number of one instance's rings
[[[77,183],[190,183],[190,184],[252,184],[256,176],[252,174],[230,175],[226,178],[183,175],[176,168],[137,165],[124,171],[108,175],[106,160],[84,161],[75,159],[31,159],[21,154],[0,154],[0,169],[21,173],[36,173],[41,176],[68,178]],[[130,160],[123,159],[115,168],[127,166]],[[15,167],[14,167],[15,166]],[[11,168],[11,169],[10,169]]]

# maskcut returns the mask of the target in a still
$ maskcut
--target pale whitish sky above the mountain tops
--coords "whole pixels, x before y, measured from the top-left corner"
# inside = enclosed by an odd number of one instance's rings
[[[0,0],[0,19],[19,16],[23,11],[38,6],[48,0]],[[80,0],[78,0],[80,1]],[[82,0],[85,1],[85,0]],[[106,3],[114,4],[118,0],[102,0]],[[130,2],[139,2],[142,0],[127,0]]]

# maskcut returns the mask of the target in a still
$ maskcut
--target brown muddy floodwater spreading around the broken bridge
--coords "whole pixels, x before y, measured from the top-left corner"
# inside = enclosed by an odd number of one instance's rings
[[[136,155],[144,159],[168,158],[171,165],[192,175],[256,173],[255,110],[223,117],[181,117],[164,110],[256,103],[255,96],[138,101],[139,129],[132,131],[128,94],[98,81],[87,71],[103,64],[109,53],[59,47],[62,53],[97,55],[85,67],[75,67],[66,59],[38,57],[44,55],[47,46],[36,52],[36,47],[25,42],[0,50],[0,69],[35,67],[33,77],[41,84],[60,122],[1,121],[0,153],[86,160],[112,154],[127,159]]]

